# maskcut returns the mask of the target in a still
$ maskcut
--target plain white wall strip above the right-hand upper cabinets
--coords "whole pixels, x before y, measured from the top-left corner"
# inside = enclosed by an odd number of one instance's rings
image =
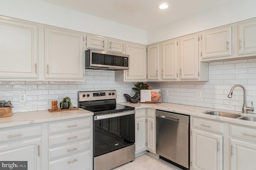
[[[147,32],[147,44],[161,42],[210,28],[256,17],[256,0],[234,0],[232,3],[178,20]],[[164,20],[164,18],[163,18]]]

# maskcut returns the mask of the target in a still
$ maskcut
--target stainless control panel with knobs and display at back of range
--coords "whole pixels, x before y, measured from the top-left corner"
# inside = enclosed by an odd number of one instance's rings
[[[78,91],[78,102],[116,99],[116,90],[108,91]]]

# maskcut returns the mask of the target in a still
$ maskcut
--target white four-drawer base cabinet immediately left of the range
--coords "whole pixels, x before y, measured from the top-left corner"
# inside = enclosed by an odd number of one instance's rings
[[[50,123],[48,128],[48,170],[92,169],[91,117]]]

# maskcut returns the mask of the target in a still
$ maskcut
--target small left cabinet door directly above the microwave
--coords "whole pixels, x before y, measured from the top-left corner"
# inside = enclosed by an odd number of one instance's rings
[[[86,48],[88,49],[99,49],[104,51],[104,42],[105,39],[103,37],[90,35],[86,36]]]

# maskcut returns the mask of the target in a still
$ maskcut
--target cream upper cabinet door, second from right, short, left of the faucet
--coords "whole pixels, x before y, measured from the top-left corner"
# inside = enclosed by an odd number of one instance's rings
[[[232,26],[202,34],[202,59],[232,55]]]

